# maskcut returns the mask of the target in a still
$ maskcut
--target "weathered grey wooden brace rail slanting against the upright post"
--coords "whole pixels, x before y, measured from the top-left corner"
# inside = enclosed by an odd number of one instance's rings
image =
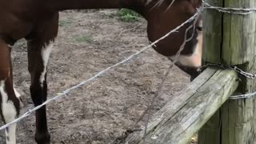
[[[207,122],[219,106],[236,90],[237,74],[233,70],[207,69],[170,100],[150,121],[147,144],[182,144]],[[144,131],[126,139],[127,144],[142,144]]]

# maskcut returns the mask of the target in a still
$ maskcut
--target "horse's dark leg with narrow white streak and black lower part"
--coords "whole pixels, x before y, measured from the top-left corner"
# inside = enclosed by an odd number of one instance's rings
[[[47,99],[46,67],[53,47],[54,38],[58,33],[58,14],[53,18],[40,22],[37,30],[27,39],[28,63],[31,77],[30,94],[34,106],[39,106]],[[35,112],[36,133],[38,144],[49,144],[50,134],[47,128],[46,106]]]

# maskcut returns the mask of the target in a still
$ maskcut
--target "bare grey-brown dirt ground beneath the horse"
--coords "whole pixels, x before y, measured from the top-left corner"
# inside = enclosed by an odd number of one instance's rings
[[[148,44],[144,20],[121,22],[116,10],[62,12],[58,38],[48,67],[49,98]],[[18,42],[13,51],[14,83],[25,104],[23,114],[33,107],[26,44]],[[146,50],[94,82],[71,91],[68,97],[50,103],[47,114],[52,143],[112,143],[133,126],[149,106],[169,64],[154,50]],[[179,94],[188,82],[188,76],[174,67],[154,103],[152,113],[164,106],[173,95]],[[18,143],[34,144],[34,130],[34,114],[18,122]],[[5,143],[2,131],[0,136],[0,143]]]

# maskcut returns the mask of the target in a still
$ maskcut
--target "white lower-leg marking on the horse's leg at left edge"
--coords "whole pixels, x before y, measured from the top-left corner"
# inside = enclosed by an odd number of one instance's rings
[[[8,100],[8,94],[5,91],[5,81],[0,82],[0,94],[2,95],[2,116],[6,123],[13,122],[17,116],[17,110],[14,102]],[[16,123],[6,128],[6,144],[16,144]]]

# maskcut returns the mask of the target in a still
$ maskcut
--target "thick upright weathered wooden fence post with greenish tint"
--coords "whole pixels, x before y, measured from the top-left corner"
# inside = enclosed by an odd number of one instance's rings
[[[255,0],[206,0],[212,6],[255,8]],[[204,12],[204,60],[256,73],[256,14]],[[255,80],[240,76],[238,93],[256,90]],[[199,144],[256,142],[256,98],[228,100],[199,131]]]

